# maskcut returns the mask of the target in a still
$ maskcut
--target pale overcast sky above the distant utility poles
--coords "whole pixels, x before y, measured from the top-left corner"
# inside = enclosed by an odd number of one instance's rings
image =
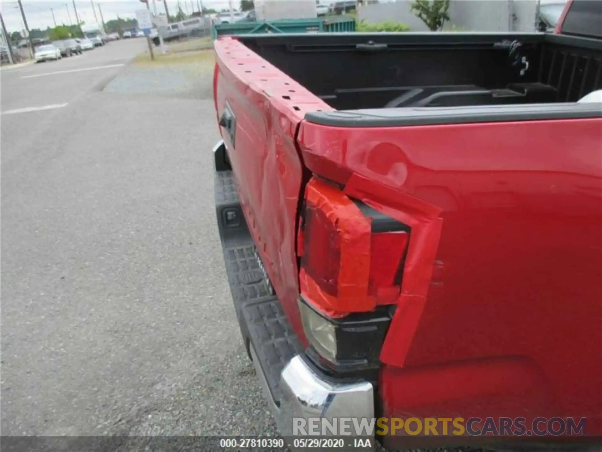
[[[61,23],[69,24],[67,6],[69,7],[71,20],[75,21],[73,0],[22,0],[22,3],[23,11],[25,11],[25,18],[27,19],[29,28],[42,28],[45,30],[46,27],[54,27],[51,8],[54,10],[54,17],[57,19],[58,25]],[[202,3],[203,7],[205,8],[215,8],[217,10],[228,8],[228,0],[180,0],[179,3],[184,13],[187,11],[188,13],[192,13],[193,7],[194,11],[198,11],[199,3]],[[238,8],[239,1],[232,0],[232,4],[235,8]],[[0,5],[2,7],[2,17],[4,18],[4,24],[6,25],[7,30],[10,32],[22,30],[23,25],[18,2],[1,0]],[[117,14],[119,14],[119,17],[123,17],[124,19],[126,17],[133,18],[136,16],[136,10],[146,8],[146,5],[140,1],[104,0],[97,2],[95,0],[94,6],[96,10],[96,17],[98,17],[99,22],[101,17],[99,14],[98,5],[101,5],[102,16],[104,17],[105,22],[111,19],[117,19]],[[152,0],[150,5],[152,10]],[[162,1],[157,1],[156,5],[158,13],[165,12],[165,7]],[[79,20],[85,20],[85,22],[96,22],[92,5],[90,4],[89,0],[76,0],[75,7],[77,8]],[[167,7],[169,8],[169,13],[173,16],[176,14],[176,11],[178,11],[178,2],[169,0],[167,2]]]

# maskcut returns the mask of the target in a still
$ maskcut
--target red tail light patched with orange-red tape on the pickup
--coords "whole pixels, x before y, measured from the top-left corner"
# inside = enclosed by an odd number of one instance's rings
[[[399,297],[409,229],[312,178],[299,234],[303,297],[331,317]]]

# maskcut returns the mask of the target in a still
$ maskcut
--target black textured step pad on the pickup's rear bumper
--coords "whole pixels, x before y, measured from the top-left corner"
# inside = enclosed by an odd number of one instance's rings
[[[244,341],[255,351],[276,406],[282,369],[303,348],[265,281],[231,171],[216,171],[216,213],[228,282]]]

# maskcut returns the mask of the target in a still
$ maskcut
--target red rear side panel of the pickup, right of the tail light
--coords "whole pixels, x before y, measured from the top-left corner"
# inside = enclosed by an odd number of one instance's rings
[[[480,414],[458,410],[464,400],[488,416],[579,413],[588,433],[590,417],[600,431],[601,130],[600,118],[347,129],[303,122],[309,169],[411,227],[380,356],[388,415]],[[467,369],[488,384],[476,391]],[[524,397],[532,386],[544,394]],[[433,388],[448,400],[427,400]]]

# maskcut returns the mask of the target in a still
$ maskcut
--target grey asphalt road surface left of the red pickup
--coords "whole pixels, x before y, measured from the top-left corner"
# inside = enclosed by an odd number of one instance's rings
[[[0,72],[3,435],[276,432],[220,253],[213,66],[144,46]]]

